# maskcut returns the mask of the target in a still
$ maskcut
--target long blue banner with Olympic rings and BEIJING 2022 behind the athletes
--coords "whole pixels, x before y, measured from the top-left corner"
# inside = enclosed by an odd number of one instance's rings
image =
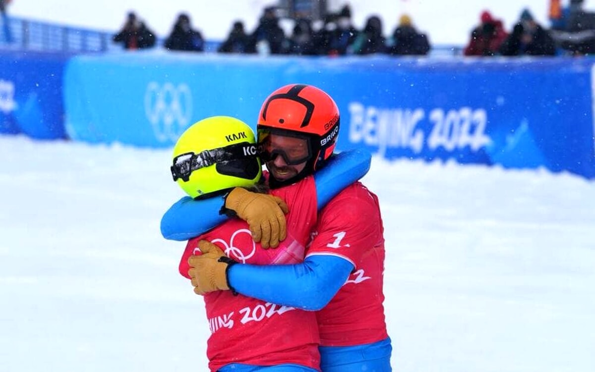
[[[65,73],[67,131],[77,140],[168,147],[206,116],[254,125],[269,93],[305,83],[336,100],[339,150],[593,178],[592,65],[563,57],[78,56]]]

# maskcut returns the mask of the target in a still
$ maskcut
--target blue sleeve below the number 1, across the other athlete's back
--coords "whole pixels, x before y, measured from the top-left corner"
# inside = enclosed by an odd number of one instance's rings
[[[227,270],[227,279],[248,297],[316,311],[328,304],[352,270],[345,258],[310,256],[293,265],[235,264]]]

